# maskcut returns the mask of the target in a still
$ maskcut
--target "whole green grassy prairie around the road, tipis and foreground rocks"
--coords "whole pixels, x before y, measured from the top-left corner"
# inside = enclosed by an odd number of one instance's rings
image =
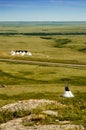
[[[62,31],[85,32],[86,26],[37,26],[0,27],[1,31],[34,32]],[[29,50],[31,57],[11,56],[12,50]],[[10,59],[38,60],[86,64],[85,35],[52,36],[2,36],[0,35],[0,57]],[[66,83],[74,98],[61,97]],[[63,109],[60,120],[71,120],[86,127],[86,68],[52,67],[11,62],[0,62],[0,106],[25,99],[51,99],[69,105]],[[72,106],[72,107],[71,107]],[[65,115],[64,113],[67,113]]]

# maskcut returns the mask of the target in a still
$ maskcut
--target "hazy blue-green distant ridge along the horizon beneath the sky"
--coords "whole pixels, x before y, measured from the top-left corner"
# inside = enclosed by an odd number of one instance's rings
[[[0,21],[0,26],[67,26],[86,25],[86,21]]]

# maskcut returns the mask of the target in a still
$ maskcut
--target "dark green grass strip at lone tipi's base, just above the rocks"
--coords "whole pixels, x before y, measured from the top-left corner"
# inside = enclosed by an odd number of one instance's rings
[[[76,103],[85,103],[86,99],[86,92],[80,92],[77,91],[75,94],[74,98],[63,98],[58,92],[44,92],[44,93],[35,93],[35,92],[30,92],[30,93],[21,93],[19,95],[12,95],[9,96],[7,94],[0,94],[0,100],[28,100],[28,99],[50,99],[50,100],[56,100],[60,101],[62,104],[75,104]]]

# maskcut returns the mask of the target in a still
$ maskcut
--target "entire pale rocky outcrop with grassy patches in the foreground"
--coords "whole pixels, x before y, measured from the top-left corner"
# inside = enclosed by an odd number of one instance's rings
[[[49,107],[48,107],[49,106]],[[24,100],[8,104],[0,108],[0,112],[10,111],[15,113],[19,110],[31,112],[29,115],[17,117],[0,125],[0,130],[84,130],[82,125],[72,124],[70,121],[59,121],[58,111],[52,107],[66,107],[65,105],[51,100]],[[57,124],[48,124],[49,118],[54,117]],[[48,118],[48,119],[47,119]],[[45,121],[45,123],[44,123]]]

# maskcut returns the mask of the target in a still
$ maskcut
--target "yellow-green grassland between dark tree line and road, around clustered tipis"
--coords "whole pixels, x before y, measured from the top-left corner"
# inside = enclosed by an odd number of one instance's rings
[[[68,43],[60,48],[55,47],[54,39],[70,39]],[[85,36],[52,36],[52,39],[42,39],[39,36],[0,36],[0,57],[10,57],[12,50],[29,50],[32,57],[29,59],[39,59],[56,62],[86,63],[86,37]],[[17,58],[17,57],[16,57]]]

